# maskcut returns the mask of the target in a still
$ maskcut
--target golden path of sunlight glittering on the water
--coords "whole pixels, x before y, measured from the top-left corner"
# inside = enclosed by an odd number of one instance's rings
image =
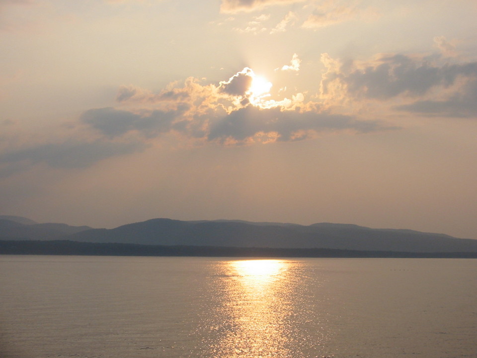
[[[211,357],[294,357],[288,326],[292,265],[285,260],[223,262],[224,322]]]

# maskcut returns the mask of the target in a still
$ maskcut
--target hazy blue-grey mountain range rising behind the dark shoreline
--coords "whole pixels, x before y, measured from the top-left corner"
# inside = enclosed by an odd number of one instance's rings
[[[270,249],[339,249],[408,253],[477,253],[477,240],[401,229],[372,229],[351,224],[181,221],[152,219],[114,229],[36,223],[0,216],[0,240],[68,240],[152,246]]]

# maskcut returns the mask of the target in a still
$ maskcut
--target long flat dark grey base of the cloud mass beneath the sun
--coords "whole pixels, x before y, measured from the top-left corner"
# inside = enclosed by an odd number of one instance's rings
[[[354,117],[312,111],[283,110],[281,107],[260,108],[247,105],[231,113],[219,114],[216,110],[188,117],[181,111],[154,111],[147,116],[114,108],[91,109],[81,117],[108,138],[120,137],[138,131],[146,138],[160,133],[176,131],[192,138],[209,141],[243,142],[255,135],[271,134],[275,140],[305,139],[310,131],[345,130],[370,132],[384,129],[376,121],[358,121]]]

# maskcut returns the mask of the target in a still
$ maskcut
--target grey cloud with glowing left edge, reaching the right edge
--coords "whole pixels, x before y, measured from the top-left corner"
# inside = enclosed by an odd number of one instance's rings
[[[394,110],[429,116],[475,117],[477,62],[443,62],[440,55],[380,56],[364,64],[345,64],[322,54],[322,99],[394,100]],[[396,98],[396,99],[395,99]],[[409,102],[413,99],[412,102]],[[396,104],[399,100],[403,104]]]

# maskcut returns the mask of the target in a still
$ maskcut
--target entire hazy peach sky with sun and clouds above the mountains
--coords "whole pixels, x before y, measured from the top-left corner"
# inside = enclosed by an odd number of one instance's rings
[[[477,239],[477,2],[0,0],[0,214]]]

